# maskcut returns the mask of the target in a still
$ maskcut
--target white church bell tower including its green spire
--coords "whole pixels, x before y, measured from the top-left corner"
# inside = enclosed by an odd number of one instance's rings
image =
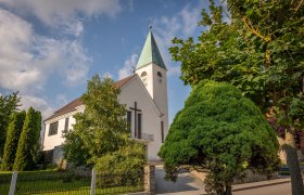
[[[167,68],[153,37],[151,26],[136,66],[136,74],[162,113],[159,127],[164,139],[168,131]]]

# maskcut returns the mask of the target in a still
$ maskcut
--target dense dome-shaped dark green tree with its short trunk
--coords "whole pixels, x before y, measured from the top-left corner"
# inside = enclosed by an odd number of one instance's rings
[[[226,82],[201,81],[175,116],[160,156],[166,177],[182,166],[207,171],[206,191],[231,194],[245,170],[271,176],[279,165],[278,141],[257,106]]]

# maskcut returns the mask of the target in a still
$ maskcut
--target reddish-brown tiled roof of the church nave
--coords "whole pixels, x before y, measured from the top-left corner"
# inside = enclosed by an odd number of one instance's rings
[[[134,78],[135,75],[132,76],[129,76],[129,77],[126,77],[122,80],[118,80],[117,82],[115,82],[115,87],[116,88],[122,88],[122,86],[124,86],[125,83],[127,83],[131,78]],[[49,118],[47,118],[46,120],[49,120],[49,119],[52,119],[54,117],[58,117],[58,116],[61,116],[61,115],[64,115],[66,113],[69,113],[69,112],[73,112],[73,110],[76,110],[76,107],[83,105],[83,101],[80,98],[78,99],[75,99],[74,101],[69,102],[68,104],[66,104],[65,106],[61,107],[60,109],[58,109],[56,112],[54,112],[54,114],[52,116],[50,116]],[[46,121],[45,120],[45,121]]]

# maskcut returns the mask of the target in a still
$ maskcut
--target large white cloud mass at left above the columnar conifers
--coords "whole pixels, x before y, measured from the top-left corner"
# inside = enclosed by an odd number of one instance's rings
[[[51,106],[39,98],[53,75],[66,86],[85,82],[91,58],[78,40],[53,39],[37,35],[31,24],[0,9],[0,88],[21,91],[24,107]]]

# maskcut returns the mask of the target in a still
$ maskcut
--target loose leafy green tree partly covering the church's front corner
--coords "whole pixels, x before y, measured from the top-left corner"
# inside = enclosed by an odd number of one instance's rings
[[[125,120],[126,108],[117,99],[119,92],[111,78],[101,80],[96,75],[88,81],[81,96],[85,110],[74,116],[73,130],[63,135],[63,150],[69,162],[94,164],[99,157],[126,143],[130,132]]]

